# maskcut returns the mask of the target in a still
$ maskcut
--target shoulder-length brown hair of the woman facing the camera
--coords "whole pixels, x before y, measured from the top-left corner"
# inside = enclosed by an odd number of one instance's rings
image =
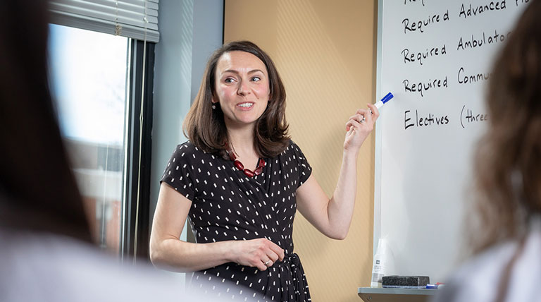
[[[212,109],[212,98],[216,96],[216,66],[223,54],[228,52],[248,52],[257,56],[265,64],[269,77],[270,100],[254,127],[254,148],[261,157],[275,157],[280,154],[290,140],[285,120],[285,88],[270,56],[256,44],[249,41],[235,41],[217,49],[206,64],[199,92],[190,107],[183,124],[184,134],[201,150],[218,152],[225,159],[225,146],[228,131],[223,119],[220,104]]]

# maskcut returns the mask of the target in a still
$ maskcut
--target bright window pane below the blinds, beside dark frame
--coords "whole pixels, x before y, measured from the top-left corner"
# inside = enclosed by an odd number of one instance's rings
[[[94,238],[120,252],[127,156],[130,39],[49,27],[51,92]]]

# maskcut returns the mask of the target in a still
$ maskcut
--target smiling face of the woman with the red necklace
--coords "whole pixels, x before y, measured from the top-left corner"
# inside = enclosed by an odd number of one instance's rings
[[[213,102],[220,102],[225,126],[254,126],[270,99],[263,61],[248,52],[223,54],[216,66],[216,97]]]

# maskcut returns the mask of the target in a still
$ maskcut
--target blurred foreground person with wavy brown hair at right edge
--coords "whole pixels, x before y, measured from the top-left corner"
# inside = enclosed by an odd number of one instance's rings
[[[530,1],[495,62],[480,141],[471,246],[437,301],[539,301],[541,1]]]

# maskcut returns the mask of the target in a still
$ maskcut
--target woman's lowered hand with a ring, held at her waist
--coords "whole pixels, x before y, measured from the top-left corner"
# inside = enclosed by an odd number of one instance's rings
[[[284,260],[283,248],[267,238],[257,238],[243,241],[230,241],[232,245],[232,260],[240,265],[257,267],[266,270],[277,260]]]

